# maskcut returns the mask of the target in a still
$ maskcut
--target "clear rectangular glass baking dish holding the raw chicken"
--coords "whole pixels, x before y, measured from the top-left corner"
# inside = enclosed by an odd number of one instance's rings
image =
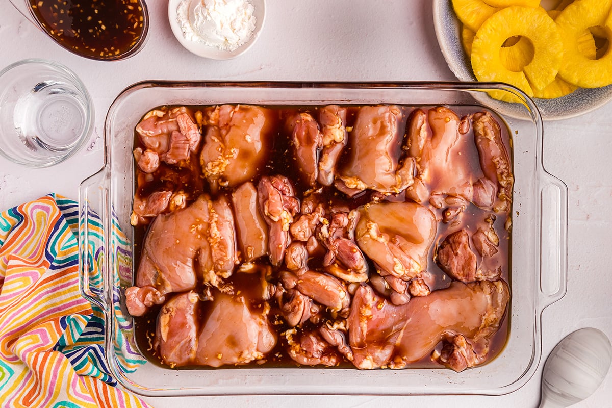
[[[488,96],[520,99],[510,111]],[[515,174],[507,344],[491,362],[455,373],[450,369],[218,368],[170,369],[140,359],[125,368],[135,347],[122,290],[132,284],[134,192],[132,144],[141,117],[159,105],[322,105],[397,103],[475,105],[498,113],[512,138]],[[567,187],[542,165],[542,119],[518,89],[497,83],[228,83],[147,81],[125,89],[110,106],[105,124],[105,165],[80,188],[80,262],[83,295],[106,311],[106,362],[119,384],[144,396],[335,394],[501,395],[517,390],[540,362],[542,310],[565,294]],[[86,226],[99,215],[103,236]],[[124,243],[114,233],[121,229]],[[127,247],[126,245],[127,244]],[[92,264],[88,251],[105,256]],[[93,281],[102,272],[102,282]]]

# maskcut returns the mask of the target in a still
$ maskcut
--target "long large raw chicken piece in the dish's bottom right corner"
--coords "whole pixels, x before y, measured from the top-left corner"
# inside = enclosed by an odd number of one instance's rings
[[[447,289],[396,306],[362,284],[347,319],[358,368],[403,368],[427,356],[449,333],[486,342],[506,313],[503,281],[453,282]]]

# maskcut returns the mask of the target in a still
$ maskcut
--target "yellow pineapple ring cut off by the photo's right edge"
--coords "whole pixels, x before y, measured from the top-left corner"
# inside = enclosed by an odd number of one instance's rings
[[[575,0],[556,18],[564,45],[559,75],[565,81],[584,88],[612,83],[612,52],[591,59],[581,53],[578,45],[578,39],[594,26],[605,28],[606,38],[612,39],[611,6],[612,0]]]

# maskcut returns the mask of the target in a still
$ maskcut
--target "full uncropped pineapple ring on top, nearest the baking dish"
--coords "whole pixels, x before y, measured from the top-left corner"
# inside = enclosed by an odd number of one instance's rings
[[[534,56],[522,72],[504,67],[499,54],[504,41],[515,35],[529,39],[534,48]],[[533,96],[532,86],[543,89],[554,81],[561,65],[562,50],[559,29],[544,9],[507,7],[488,18],[476,32],[472,43],[472,70],[479,81],[506,82]]]

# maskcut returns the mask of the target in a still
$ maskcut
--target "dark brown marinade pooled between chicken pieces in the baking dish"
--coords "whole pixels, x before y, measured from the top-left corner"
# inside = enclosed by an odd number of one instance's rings
[[[296,158],[293,156],[293,152],[292,152],[293,149],[291,148],[291,142],[289,138],[290,135],[288,135],[285,132],[285,130],[283,130],[283,127],[280,124],[283,123],[283,119],[295,113],[304,112],[304,111],[311,113],[313,117],[318,117],[317,110],[319,106],[270,106],[270,105],[261,105],[261,106],[274,110],[278,114],[278,119],[280,120],[277,121],[279,125],[277,127],[277,130],[275,130],[275,133],[274,133],[274,147],[269,153],[267,165],[265,166],[264,169],[262,169],[260,174],[257,177],[255,177],[255,179],[253,179],[252,181],[256,185],[259,177],[261,176],[272,175],[272,174],[283,174],[284,176],[288,177],[290,180],[293,181],[295,191],[296,191],[296,196],[297,198],[300,198],[300,201],[301,201],[301,199],[304,197],[305,191],[309,189],[309,186],[302,181],[302,176],[300,175],[299,168],[296,165]],[[166,105],[166,106],[159,106],[154,109],[170,110],[171,108],[174,108],[174,107],[176,106]],[[198,106],[198,105],[189,106],[189,108],[191,108],[193,112],[198,111],[198,110],[203,110],[209,107],[210,106]],[[405,113],[405,121],[403,122],[403,126],[406,125],[406,118],[409,116],[409,114],[412,111],[414,111],[414,109],[417,109],[417,108],[429,109],[433,107],[434,106],[402,106],[402,109],[404,110],[404,113]],[[360,106],[348,106],[348,113],[346,116],[346,127],[353,127],[354,121],[356,119],[356,114],[357,114],[357,111],[359,111],[359,108]],[[449,108],[452,109],[455,113],[457,113],[459,117],[463,117],[465,115],[471,115],[478,111],[483,111],[483,108],[480,106],[469,106],[469,105],[449,106]],[[494,119],[496,119],[496,121],[501,127],[502,141],[504,143],[504,146],[506,146],[508,149],[508,153],[510,155],[510,162],[512,163],[513,161],[512,160],[512,149],[510,148],[512,144],[510,142],[510,135],[505,125],[505,122],[495,113],[491,112],[491,114],[493,114]],[[205,135],[205,132],[203,132],[203,135]],[[473,133],[472,128],[470,128],[468,135],[466,136],[472,139],[474,138],[474,133]],[[136,147],[141,147],[143,150],[145,149],[145,147],[140,143],[140,140],[138,139],[138,135],[135,133],[133,149],[135,149]],[[349,146],[346,146],[345,151],[340,157],[338,166],[342,166],[342,163],[346,162],[346,157],[348,156],[348,152],[349,152]],[[475,146],[474,146],[474,151],[470,152],[469,156],[471,156],[474,159],[474,163],[471,163],[472,165],[471,167],[479,168],[479,163],[478,163],[479,159],[478,159],[478,155],[477,155]],[[174,166],[169,166],[169,165],[166,165],[165,163],[160,163],[160,169],[157,172],[160,172],[160,171],[161,172],[168,172],[168,171],[172,172],[172,171],[176,171],[176,169],[177,168],[175,168]],[[173,177],[174,179],[176,179],[176,176],[173,176]],[[187,180],[187,179],[183,179],[181,177],[181,180]],[[157,190],[157,188],[162,187],[159,184],[159,182],[156,182],[156,183],[157,184],[151,183],[151,184],[141,185],[140,189],[137,188],[135,185],[135,191],[137,194],[146,196],[147,194],[152,193],[153,191]],[[175,184],[175,185],[179,185],[179,184]],[[166,187],[171,187],[171,186],[166,185]],[[193,178],[193,179],[186,181],[185,184],[181,185],[181,188],[185,192],[190,193],[190,197],[192,198],[192,200],[197,198],[200,195],[200,193],[203,193],[203,192],[211,194],[211,191],[207,189],[206,181],[203,181],[202,177]],[[217,193],[217,195],[219,194],[228,195],[230,193],[231,193],[231,189],[228,190],[228,189],[222,188],[222,190],[220,190]],[[355,209],[359,206],[366,204],[367,202],[370,202],[371,197],[372,197],[371,191],[364,191],[364,193],[360,193],[359,195],[354,196],[353,198],[348,198],[343,193],[336,190],[334,187],[323,188],[322,194],[327,199],[327,201],[334,202],[334,204],[348,206],[351,209]],[[211,196],[212,198],[215,197],[214,194],[211,194]],[[405,196],[403,196],[403,194],[400,194],[397,196],[397,199],[401,201],[405,201]],[[441,218],[441,212],[444,209],[435,209],[433,206],[428,206],[428,208],[436,214],[436,217],[438,219]],[[445,224],[445,223],[442,223],[441,221],[438,222],[438,230],[436,232],[436,238],[431,245],[431,248],[428,254],[428,265],[427,265],[427,272],[435,277],[435,284],[434,286],[430,288],[432,291],[437,290],[437,289],[444,289],[448,287],[450,283],[452,282],[452,279],[450,279],[449,276],[446,275],[446,273],[442,272],[442,270],[438,267],[438,265],[436,264],[434,260],[435,250],[438,247],[438,245],[451,232],[458,231],[458,229],[461,229],[462,226],[464,228],[468,228],[468,226],[470,225],[475,225],[476,220],[483,220],[487,218],[487,215],[489,215],[490,213],[491,213],[490,211],[480,209],[479,207],[474,206],[474,204],[470,203],[469,206],[463,212],[464,214],[463,217],[465,217],[464,218],[465,222],[461,223],[461,226],[453,226],[452,223]],[[504,259],[504,261],[506,261],[504,264],[501,265],[501,271],[502,271],[501,279],[509,283],[510,282],[510,270],[511,270],[510,234],[509,234],[509,231],[506,231],[506,229],[504,229],[504,225],[506,224],[506,220],[507,220],[507,215],[505,213],[495,213],[495,217],[496,217],[496,221],[493,223],[493,228],[495,229],[500,239],[499,247],[498,247],[498,250],[500,253],[499,258]],[[133,237],[134,237],[134,242],[135,242],[134,249],[133,249],[133,261],[134,261],[133,265],[135,265],[135,268],[134,268],[135,271],[138,269],[137,265],[140,260],[140,252],[141,252],[140,243],[144,241],[144,237],[146,236],[146,229],[147,229],[147,226],[141,225],[141,226],[136,226],[133,230]],[[476,256],[478,258],[478,262],[480,263],[481,261],[480,255],[476,253]],[[266,265],[268,264],[269,262],[266,262]],[[310,267],[316,267],[315,264],[316,264],[316,260],[310,260],[308,265]],[[375,265],[373,265],[373,263],[369,259],[368,259],[368,264],[370,266],[370,271],[371,271],[370,273],[373,273],[372,271],[376,270]],[[273,268],[272,277],[270,278],[269,281],[271,283],[277,283],[277,276],[278,276],[277,272],[280,271],[281,267],[278,267],[278,268],[272,267],[272,268]],[[248,287],[250,286],[250,284],[253,283],[253,279],[259,278],[259,276],[260,275],[258,273],[255,273],[255,274],[234,273],[227,281],[228,283],[231,283],[234,286],[236,291],[242,291],[244,293],[244,292],[248,292]],[[201,292],[201,289],[202,289],[201,287],[196,288],[196,292]],[[247,299],[247,297],[245,297],[245,299]],[[286,343],[285,337],[281,335],[280,333],[285,332],[285,330],[288,330],[289,327],[288,325],[286,325],[285,322],[283,322],[283,318],[280,316],[280,313],[278,312],[278,306],[275,306],[275,302],[271,300],[270,303],[272,307],[271,313],[269,314],[269,316],[271,316],[270,320],[272,324],[274,325],[276,332],[278,333],[278,343],[274,351],[270,352],[266,356],[264,362],[255,361],[255,362],[249,363],[248,365],[236,366],[236,368],[245,368],[245,367],[246,368],[255,368],[255,367],[261,367],[261,368],[302,367],[304,368],[304,367],[310,367],[310,366],[300,365],[294,362],[286,354],[285,350],[287,347],[287,343]],[[511,303],[512,303],[512,299],[510,299],[509,308],[512,307]],[[251,306],[254,309],[261,307],[261,305],[258,302],[252,302]],[[152,347],[154,336],[155,336],[155,326],[157,322],[157,315],[159,314],[159,311],[160,311],[160,306],[154,306],[144,316],[134,317],[134,326],[135,326],[134,332],[135,332],[136,345],[140,349],[141,354],[144,357],[146,357],[147,360],[157,365],[165,366],[165,364],[162,362],[160,357],[155,354],[155,351]],[[203,317],[203,316],[200,316],[200,317]],[[326,316],[324,316],[324,319],[325,317]],[[331,316],[329,317],[330,319],[332,319]],[[509,335],[509,325],[510,325],[510,313],[507,312],[506,316],[504,316],[504,318],[502,319],[499,325],[499,329],[490,339],[487,362],[490,362],[491,360],[493,360],[493,358],[499,355],[502,349],[504,349],[504,346],[506,346],[507,338]],[[302,325],[302,330],[306,331],[308,330],[308,328],[314,328],[314,327],[315,325],[313,325],[312,323],[306,322],[304,325]],[[436,346],[436,350],[440,351],[441,347],[442,347],[442,343],[440,342],[438,346]],[[340,365],[336,367],[357,369],[354,367],[352,363],[346,360],[340,363]],[[430,355],[426,355],[419,362],[411,363],[409,365],[409,368],[440,368],[440,367],[441,365],[439,365],[436,362],[431,361]],[[232,368],[232,366],[223,366],[223,368]],[[207,366],[184,366],[184,367],[181,367],[180,369],[215,369],[215,368],[211,368]]]

